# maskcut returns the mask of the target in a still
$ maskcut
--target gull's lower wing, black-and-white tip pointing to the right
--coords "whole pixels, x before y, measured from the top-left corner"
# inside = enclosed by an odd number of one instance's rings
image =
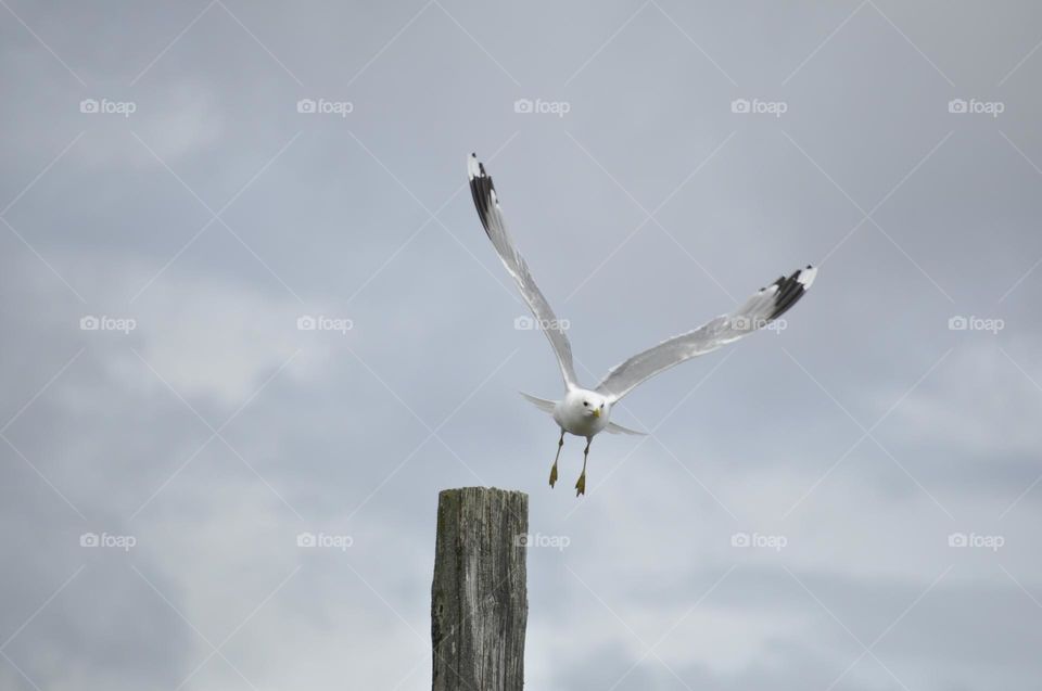
[[[729,315],[721,315],[695,331],[663,341],[617,364],[597,385],[597,393],[619,400],[637,384],[664,372],[684,360],[704,355],[761,329],[795,305],[811,287],[817,269],[808,266],[792,276],[784,276],[750,297]]]

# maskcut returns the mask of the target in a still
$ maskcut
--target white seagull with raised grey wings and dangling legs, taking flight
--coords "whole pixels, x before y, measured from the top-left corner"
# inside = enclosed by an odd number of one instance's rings
[[[586,461],[589,458],[589,445],[597,434],[605,431],[611,434],[644,434],[611,422],[611,410],[623,396],[641,382],[675,364],[712,353],[723,345],[766,327],[798,303],[817,276],[817,269],[810,265],[789,277],[782,276],[767,287],[761,287],[733,312],[721,315],[694,331],[673,336],[638,353],[611,368],[594,388],[584,388],[575,376],[572,346],[568,336],[564,335],[561,322],[532,279],[524,257],[518,252],[507,230],[507,222],[499,206],[496,189],[492,184],[492,178],[475,154],[471,154],[467,159],[467,175],[470,178],[470,192],[474,197],[474,206],[478,207],[478,216],[481,218],[485,234],[496,248],[503,266],[518,284],[521,297],[528,303],[535,317],[535,324],[549,340],[564,380],[564,397],[560,400],[547,400],[525,393],[521,394],[536,408],[552,415],[554,422],[561,430],[561,436],[557,440],[557,456],[554,457],[554,465],[550,468],[550,487],[557,483],[557,461],[561,457],[561,447],[564,446],[564,433],[586,437],[583,472],[575,482],[576,497],[586,494]]]

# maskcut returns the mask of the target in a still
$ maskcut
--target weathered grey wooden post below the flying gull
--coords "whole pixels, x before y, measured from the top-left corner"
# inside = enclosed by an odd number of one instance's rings
[[[439,495],[431,587],[434,691],[521,691],[528,532],[523,492],[465,487]]]

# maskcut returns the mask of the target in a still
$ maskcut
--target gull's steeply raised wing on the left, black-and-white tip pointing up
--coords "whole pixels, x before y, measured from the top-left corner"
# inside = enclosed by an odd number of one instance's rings
[[[478,156],[470,155],[467,159],[467,174],[470,177],[470,193],[474,197],[474,206],[478,207],[478,216],[481,217],[481,225],[485,228],[485,233],[503,260],[503,266],[513,277],[521,291],[521,297],[529,304],[529,309],[536,320],[536,328],[546,334],[550,340],[550,346],[554,347],[554,354],[557,356],[557,363],[561,368],[561,376],[564,378],[564,384],[569,388],[579,385],[575,379],[575,367],[572,364],[572,346],[568,342],[568,336],[561,329],[561,322],[546,302],[539,287],[532,279],[529,272],[529,265],[524,257],[518,252],[513,244],[513,239],[507,231],[507,221],[503,217],[503,209],[499,208],[499,197],[496,195],[496,189],[492,184],[492,178],[485,172],[485,166],[478,162]]]

